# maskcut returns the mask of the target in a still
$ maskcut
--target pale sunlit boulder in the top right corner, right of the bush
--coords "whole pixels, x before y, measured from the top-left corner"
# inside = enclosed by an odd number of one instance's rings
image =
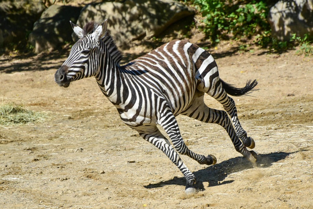
[[[288,41],[292,34],[313,35],[313,0],[281,0],[269,11],[272,36]]]

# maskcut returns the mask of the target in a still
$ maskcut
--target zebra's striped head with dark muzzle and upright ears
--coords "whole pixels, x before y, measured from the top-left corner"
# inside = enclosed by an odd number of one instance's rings
[[[100,67],[100,57],[103,54],[103,41],[107,20],[94,28],[94,23],[87,24],[84,29],[70,21],[74,33],[80,38],[72,47],[69,57],[55,72],[54,81],[63,87],[69,87],[71,81],[95,76]]]

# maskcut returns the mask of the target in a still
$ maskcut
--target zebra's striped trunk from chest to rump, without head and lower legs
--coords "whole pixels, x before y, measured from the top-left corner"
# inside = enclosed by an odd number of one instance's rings
[[[212,55],[187,40],[173,40],[117,70],[119,87],[104,84],[116,75],[96,76],[97,82],[121,119],[137,128],[159,124],[160,112],[156,110],[160,100],[177,116],[190,106],[196,91],[216,95],[215,86],[220,84]]]

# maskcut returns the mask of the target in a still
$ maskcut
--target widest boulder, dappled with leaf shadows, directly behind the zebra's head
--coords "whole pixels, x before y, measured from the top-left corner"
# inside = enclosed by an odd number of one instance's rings
[[[171,24],[194,11],[174,0],[126,0],[86,5],[77,25],[89,21],[102,23],[108,19],[108,30],[119,48],[131,46],[133,40],[150,39],[162,33]],[[73,39],[77,40],[75,34]]]

